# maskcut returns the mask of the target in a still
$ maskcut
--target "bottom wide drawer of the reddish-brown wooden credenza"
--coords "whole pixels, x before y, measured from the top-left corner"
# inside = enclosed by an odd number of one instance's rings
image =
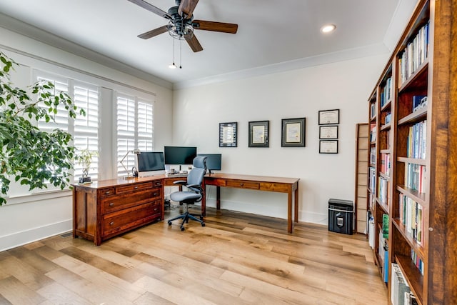
[[[103,236],[119,233],[126,229],[147,224],[154,219],[160,219],[161,201],[134,206],[111,214],[106,214],[103,219]]]

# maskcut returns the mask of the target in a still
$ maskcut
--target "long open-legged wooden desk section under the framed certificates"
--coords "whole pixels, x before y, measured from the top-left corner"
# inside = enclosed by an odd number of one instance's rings
[[[287,231],[292,233],[292,196],[294,196],[293,217],[298,222],[298,178],[282,178],[269,176],[250,176],[238,174],[209,174],[204,178],[206,185],[214,185],[216,188],[216,209],[221,209],[221,186],[236,189],[253,189],[257,191],[277,191],[287,193]],[[206,198],[201,201],[201,214],[206,214]]]

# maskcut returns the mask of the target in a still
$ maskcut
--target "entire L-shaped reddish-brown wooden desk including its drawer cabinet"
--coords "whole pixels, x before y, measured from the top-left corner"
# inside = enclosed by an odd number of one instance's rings
[[[184,176],[150,176],[129,180],[111,179],[91,184],[73,185],[73,237],[80,236],[102,241],[132,229],[164,220],[164,186],[175,186]],[[210,174],[204,177],[203,187],[217,186],[216,204],[221,209],[220,187],[277,191],[288,194],[287,231],[292,233],[292,209],[298,222],[298,180],[268,176],[236,174]],[[292,196],[295,196],[292,208]],[[205,196],[201,201],[201,214],[206,214]]]

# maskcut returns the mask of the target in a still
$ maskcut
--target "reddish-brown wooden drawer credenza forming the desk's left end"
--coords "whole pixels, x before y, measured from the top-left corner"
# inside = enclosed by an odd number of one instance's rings
[[[73,237],[102,241],[164,219],[164,176],[73,185]]]

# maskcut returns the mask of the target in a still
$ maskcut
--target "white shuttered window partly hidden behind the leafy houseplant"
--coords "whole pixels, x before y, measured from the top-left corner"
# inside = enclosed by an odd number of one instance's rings
[[[60,76],[45,74],[35,71],[37,81],[50,81],[54,84],[54,94],[56,92],[66,92],[69,94],[74,104],[86,111],[86,116],[77,115],[76,119],[71,119],[68,112],[62,106],[57,114],[54,114],[55,121],[46,123],[44,120],[38,122],[39,129],[52,131],[61,129],[73,136],[76,154],[78,150],[89,149],[89,151],[99,151],[99,92],[98,88],[91,84],[81,81],[64,79]],[[43,105],[44,106],[44,105]],[[78,181],[82,176],[82,166],[74,164],[74,181]],[[97,156],[92,159],[89,176],[92,180],[98,179],[99,160]]]

